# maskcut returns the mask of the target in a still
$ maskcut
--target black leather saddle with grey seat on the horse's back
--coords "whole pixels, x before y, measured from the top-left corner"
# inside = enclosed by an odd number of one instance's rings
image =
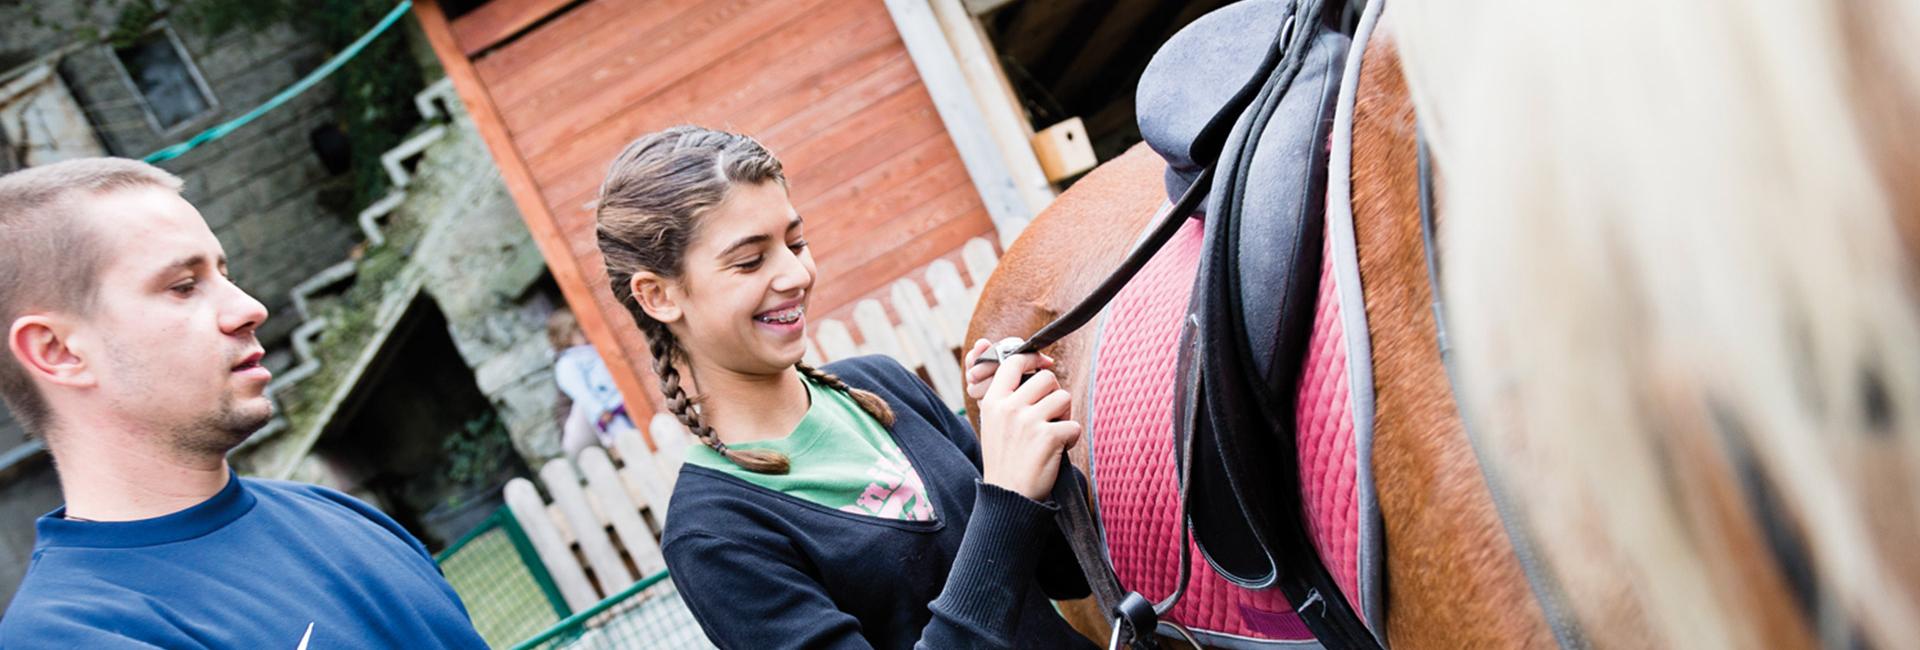
[[[1308,533],[1294,403],[1319,293],[1327,142],[1348,36],[1323,0],[1246,0],[1175,35],[1140,77],[1140,132],[1167,159],[1167,196],[1212,167],[1200,272],[1181,351],[1192,435],[1187,514],[1208,564],[1281,589],[1327,646],[1377,648]],[[1277,46],[1294,52],[1258,90]],[[1246,102],[1244,111],[1221,111]],[[1231,127],[1223,121],[1231,119]],[[1217,151],[1217,153],[1215,153]],[[1213,159],[1217,155],[1217,159]],[[1208,165],[1212,161],[1212,165]],[[1185,460],[1185,458],[1183,458]]]

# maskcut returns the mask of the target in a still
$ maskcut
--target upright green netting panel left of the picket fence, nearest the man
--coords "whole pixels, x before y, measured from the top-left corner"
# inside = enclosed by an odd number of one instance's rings
[[[436,560],[488,646],[505,648],[534,637],[568,614],[507,508],[495,510]]]

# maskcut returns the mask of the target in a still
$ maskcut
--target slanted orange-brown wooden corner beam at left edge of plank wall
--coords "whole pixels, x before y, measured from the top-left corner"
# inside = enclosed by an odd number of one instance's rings
[[[440,58],[440,65],[453,79],[453,90],[459,92],[461,104],[467,104],[467,113],[472,117],[474,128],[480,130],[488,151],[493,153],[493,165],[499,167],[499,174],[507,182],[507,192],[520,209],[520,221],[534,234],[540,255],[547,259],[553,282],[561,286],[561,295],[572,307],[574,318],[580,320],[580,330],[593,343],[593,349],[599,351],[601,360],[607,362],[607,370],[612,374],[614,385],[620,387],[628,416],[634,422],[653,420],[653,399],[649,399],[639,376],[634,374],[634,359],[628,359],[626,349],[620,347],[620,339],[614,337],[612,324],[607,322],[607,313],[593,299],[593,288],[588,286],[580,261],[572,255],[559,222],[541,199],[540,186],[534,184],[534,171],[528,169],[526,159],[513,146],[513,134],[499,121],[499,109],[493,105],[486,82],[474,71],[472,59],[453,40],[451,25],[447,25],[447,15],[440,10],[440,2],[419,0],[413,4],[413,12],[420,19],[420,31],[426,33],[434,56]],[[653,431],[641,428],[641,435],[645,435],[647,447],[660,447],[653,441]]]

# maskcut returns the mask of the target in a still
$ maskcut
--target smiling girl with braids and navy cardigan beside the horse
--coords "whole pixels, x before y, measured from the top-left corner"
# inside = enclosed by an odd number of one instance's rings
[[[1043,502],[1079,439],[1079,424],[1054,422],[1068,393],[1044,359],[1012,359],[970,387],[979,439],[891,359],[803,364],[814,259],[780,161],[747,136],[639,138],[607,171],[597,221],[666,408],[703,443],[687,451],[662,546],[708,638],[1091,646],[1046,602],[1085,596],[1087,583]]]

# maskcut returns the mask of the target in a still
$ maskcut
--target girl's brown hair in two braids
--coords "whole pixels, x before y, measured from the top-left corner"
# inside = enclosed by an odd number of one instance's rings
[[[664,322],[653,320],[634,297],[634,274],[647,270],[678,278],[682,257],[693,240],[701,215],[726,199],[735,184],[787,184],[781,165],[749,136],[701,127],[674,127],[628,144],[607,169],[595,207],[595,236],[607,263],[614,299],[626,305],[634,324],[647,337],[653,372],[660,376],[666,410],[703,445],[730,462],[760,474],[787,474],[785,454],[764,449],[732,449],[720,441],[682,385],[680,368],[687,351]],[[820,385],[847,393],[862,410],[893,426],[893,408],[879,395],[854,389],[837,376],[795,364]]]

